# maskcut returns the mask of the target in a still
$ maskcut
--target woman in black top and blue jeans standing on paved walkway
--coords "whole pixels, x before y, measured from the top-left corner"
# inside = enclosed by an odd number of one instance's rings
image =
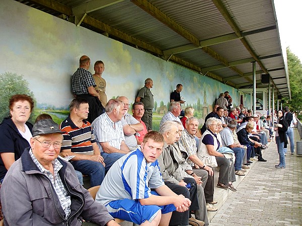
[[[275,165],[277,169],[285,168],[285,149],[287,145],[286,131],[287,122],[284,119],[283,110],[278,110],[277,112],[278,123],[275,124],[274,131],[276,131],[276,144],[279,153],[279,164]]]

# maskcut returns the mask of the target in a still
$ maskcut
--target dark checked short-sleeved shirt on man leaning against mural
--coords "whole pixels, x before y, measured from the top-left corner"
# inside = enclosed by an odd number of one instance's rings
[[[71,76],[72,92],[75,95],[89,94],[88,87],[96,86],[92,74],[85,68],[78,68]]]

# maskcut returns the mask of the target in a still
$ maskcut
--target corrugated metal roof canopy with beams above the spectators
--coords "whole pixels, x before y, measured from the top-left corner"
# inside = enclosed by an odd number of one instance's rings
[[[290,98],[273,0],[15,0],[235,88]],[[286,85],[284,87],[284,85]],[[280,91],[279,91],[280,89]]]

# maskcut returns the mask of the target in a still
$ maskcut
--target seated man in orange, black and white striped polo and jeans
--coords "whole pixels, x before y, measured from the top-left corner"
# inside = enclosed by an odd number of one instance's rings
[[[90,185],[97,186],[105,177],[105,163],[92,132],[91,124],[86,120],[89,104],[86,99],[77,97],[70,103],[70,115],[60,129],[63,134],[61,152],[74,155],[71,164],[75,170],[90,176]]]

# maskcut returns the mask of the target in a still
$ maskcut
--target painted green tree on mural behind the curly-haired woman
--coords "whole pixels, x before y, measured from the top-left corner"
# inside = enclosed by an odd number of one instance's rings
[[[10,114],[9,100],[12,95],[26,94],[31,96],[34,101],[34,93],[28,88],[28,82],[22,75],[12,72],[0,74],[0,122]],[[36,101],[35,101],[36,103]]]

